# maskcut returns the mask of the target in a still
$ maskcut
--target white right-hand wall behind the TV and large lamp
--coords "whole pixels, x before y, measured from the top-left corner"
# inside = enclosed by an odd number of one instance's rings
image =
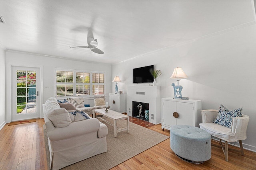
[[[161,98],[174,97],[170,79],[174,68],[182,67],[188,78],[180,80],[182,96],[202,100],[203,109],[243,107],[249,115],[246,149],[256,151],[256,24],[240,29],[226,30],[112,65],[112,78],[118,75],[119,89],[127,92],[132,84],[132,68],[154,64],[163,74],[156,79],[161,86]],[[112,83],[112,92],[114,84]],[[160,110],[159,110],[160,111]]]

